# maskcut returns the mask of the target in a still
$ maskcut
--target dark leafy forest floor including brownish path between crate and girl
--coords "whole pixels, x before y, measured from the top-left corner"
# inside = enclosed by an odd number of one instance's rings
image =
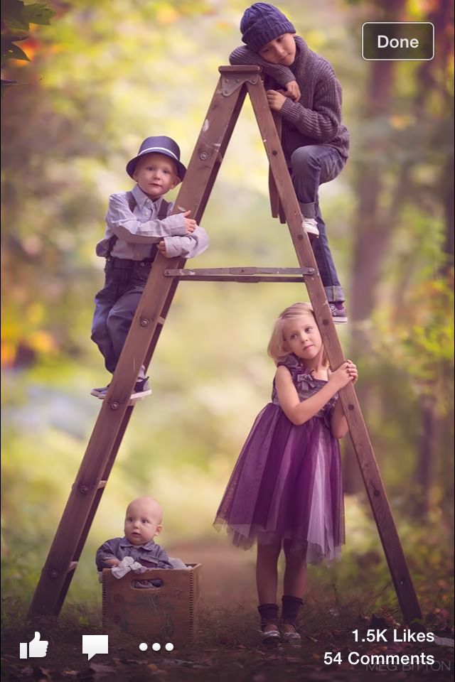
[[[173,556],[187,556],[188,547],[170,548]],[[192,545],[191,551],[195,548]],[[309,590],[299,629],[302,640],[296,646],[264,646],[257,632],[253,556],[230,546],[201,544],[196,548],[203,564],[203,600],[200,605],[200,632],[193,645],[176,646],[171,652],[139,651],[139,639],[124,637],[112,643],[109,654],[90,661],[81,653],[82,634],[101,634],[99,607],[73,602],[65,607],[58,622],[45,619],[26,622],[26,607],[20,598],[4,598],[2,630],[2,676],[5,682],[50,681],[128,681],[179,682],[294,682],[303,680],[348,681],[375,676],[393,680],[435,680],[453,678],[454,649],[449,646],[392,642],[393,629],[402,632],[390,580],[378,582],[373,565],[358,570],[359,580],[348,587],[333,582],[333,573],[316,570],[309,576]],[[325,575],[325,577],[324,577]],[[370,578],[368,577],[370,575]],[[428,582],[428,580],[427,580]],[[451,618],[438,607],[437,581],[433,590],[417,592],[424,597],[427,629],[441,637],[453,637]],[[368,628],[386,629],[387,643],[354,642],[353,630],[365,639]],[[21,660],[19,642],[30,642],[33,632],[41,632],[49,642],[45,659]],[[324,662],[327,651],[340,653],[341,662]],[[351,651],[370,657],[364,662],[348,661]],[[374,655],[419,656],[412,664],[377,665]],[[423,658],[422,658],[423,654]],[[434,656],[434,663],[427,658]],[[425,662],[427,661],[427,662]]]

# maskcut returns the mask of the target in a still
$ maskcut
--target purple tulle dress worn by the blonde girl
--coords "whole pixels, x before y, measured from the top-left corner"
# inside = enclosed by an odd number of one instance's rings
[[[326,381],[314,379],[291,354],[284,364],[301,400]],[[264,407],[248,435],[215,518],[245,549],[289,538],[307,563],[336,558],[344,543],[343,485],[338,440],[330,430],[334,396],[309,421],[294,426],[279,406]]]

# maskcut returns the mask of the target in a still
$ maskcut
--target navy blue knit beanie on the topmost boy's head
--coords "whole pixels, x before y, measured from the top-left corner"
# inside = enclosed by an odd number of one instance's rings
[[[245,9],[240,21],[242,40],[253,52],[259,52],[270,40],[283,33],[295,33],[289,19],[267,2],[255,2]]]

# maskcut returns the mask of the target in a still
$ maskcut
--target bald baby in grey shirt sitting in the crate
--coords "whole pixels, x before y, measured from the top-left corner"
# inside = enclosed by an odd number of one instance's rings
[[[153,497],[138,497],[129,503],[124,522],[124,536],[112,538],[97,550],[97,569],[111,568],[112,575],[123,578],[133,570],[144,573],[151,568],[187,568],[181,559],[169,557],[156,544],[161,533],[163,510]],[[134,587],[159,587],[161,580],[136,580]],[[159,583],[159,584],[158,584]]]

